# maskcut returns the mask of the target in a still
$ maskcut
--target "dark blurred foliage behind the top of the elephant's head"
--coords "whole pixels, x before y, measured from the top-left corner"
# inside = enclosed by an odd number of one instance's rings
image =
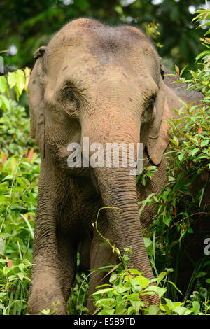
[[[1,0],[1,50],[8,50],[3,58],[8,70],[31,67],[33,52],[39,46],[47,45],[57,30],[74,18],[90,17],[111,25],[137,25],[149,32],[149,35],[157,25],[160,35],[152,33],[155,37],[153,40],[164,45],[159,51],[166,66],[172,69],[176,62],[183,67],[186,63],[193,64],[195,56],[201,51],[197,38],[202,32],[190,25],[193,13],[189,7],[198,8],[202,2],[204,1],[25,0],[20,6],[18,0]],[[15,55],[12,50],[15,50]]]

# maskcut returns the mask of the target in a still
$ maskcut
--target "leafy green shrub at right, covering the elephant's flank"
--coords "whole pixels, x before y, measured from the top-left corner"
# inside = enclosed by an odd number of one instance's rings
[[[195,20],[202,20],[204,17],[210,18],[209,10],[199,10]],[[205,36],[207,34],[209,31]],[[201,228],[202,223],[208,220],[210,214],[210,204],[207,199],[210,179],[210,50],[207,38],[202,41],[208,49],[196,58],[197,60],[202,59],[202,63],[200,63],[202,69],[195,72],[190,71],[190,80],[182,77],[182,72],[179,73],[177,66],[176,73],[180,78],[179,82],[188,83],[189,91],[199,90],[202,92],[203,98],[200,104],[196,105],[183,102],[183,107],[179,111],[175,111],[176,118],[169,122],[172,128],[171,151],[166,153],[169,183],[157,195],[151,194],[147,200],[140,202],[140,215],[146,204],[149,203],[156,207],[151,227],[151,239],[145,238],[153,269],[158,275],[162,268],[173,268],[174,271],[170,276],[175,283],[185,241],[190,241],[190,239],[193,241],[193,236],[196,234],[194,227]],[[207,232],[207,237],[208,234]],[[210,281],[210,262],[207,255],[203,254],[202,258],[193,266],[195,270],[184,301],[190,303],[197,295],[199,301],[205,304],[209,300]],[[198,291],[190,297],[193,287]],[[167,293],[173,298],[178,297],[172,287],[169,287]],[[191,301],[188,300],[188,297]]]

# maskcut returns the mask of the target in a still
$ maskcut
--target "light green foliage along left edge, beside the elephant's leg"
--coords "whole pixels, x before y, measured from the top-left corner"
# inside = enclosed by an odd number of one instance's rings
[[[40,163],[27,113],[8,99],[27,89],[25,73],[0,77],[0,314],[13,315],[27,309]]]

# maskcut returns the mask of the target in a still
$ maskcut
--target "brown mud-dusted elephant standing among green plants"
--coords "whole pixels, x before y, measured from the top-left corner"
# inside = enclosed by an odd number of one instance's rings
[[[138,202],[167,183],[163,155],[172,109],[183,106],[180,99],[197,102],[201,94],[175,90],[153,43],[130,25],[72,20],[36,50],[34,60],[28,86],[30,136],[41,153],[41,171],[28,310],[40,314],[58,301],[56,314],[66,314],[78,247],[84,267],[117,261],[93,225],[102,207],[99,232],[121,255],[130,246],[130,268],[153,279],[142,229],[148,228],[154,209],[146,207],[140,221]],[[84,151],[82,165],[69,167],[68,146],[83,146],[84,137],[90,145],[141,143],[144,158],[158,172],[146,186],[137,185],[130,165],[87,166]],[[123,151],[119,158],[122,164]],[[100,275],[90,276],[90,295]],[[148,303],[158,304],[158,296],[148,297]]]

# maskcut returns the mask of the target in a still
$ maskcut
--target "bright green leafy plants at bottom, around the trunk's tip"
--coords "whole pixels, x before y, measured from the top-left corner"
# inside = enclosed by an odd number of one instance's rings
[[[167,280],[167,272],[161,272],[157,278],[149,280],[137,271],[129,269],[130,248],[125,248],[125,254],[120,255],[120,260],[126,258],[126,262],[120,262],[109,279],[110,284],[97,286],[93,293],[94,305],[97,307],[94,314],[97,315],[204,315],[209,311],[207,303],[204,305],[204,312],[200,309],[200,302],[194,300],[188,307],[183,302],[172,302],[169,298],[163,297],[167,292],[166,283],[171,283],[176,290],[174,283]],[[119,254],[118,254],[119,255]],[[123,265],[123,266],[122,266]],[[156,283],[156,284],[155,284]],[[148,307],[146,296],[158,294],[160,305]]]

